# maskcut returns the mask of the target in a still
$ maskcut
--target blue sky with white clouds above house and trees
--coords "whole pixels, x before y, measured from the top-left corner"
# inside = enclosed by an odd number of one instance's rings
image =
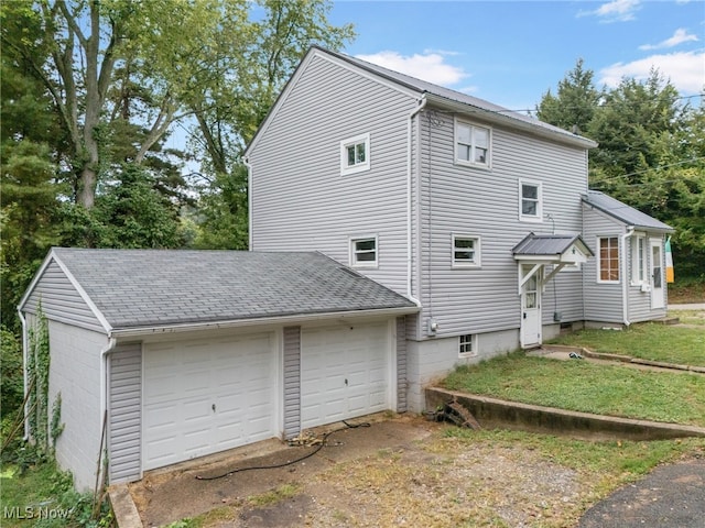
[[[704,0],[334,0],[328,20],[355,26],[344,53],[512,110],[578,58],[598,88],[655,67],[682,96],[705,91]]]

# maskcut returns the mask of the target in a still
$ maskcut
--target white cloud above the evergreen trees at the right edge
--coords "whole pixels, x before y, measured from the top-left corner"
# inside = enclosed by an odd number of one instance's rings
[[[617,63],[599,72],[599,84],[615,88],[623,77],[633,77],[644,80],[652,68],[670,79],[671,84],[682,95],[701,94],[705,87],[705,51],[679,52],[633,61],[631,63]]]

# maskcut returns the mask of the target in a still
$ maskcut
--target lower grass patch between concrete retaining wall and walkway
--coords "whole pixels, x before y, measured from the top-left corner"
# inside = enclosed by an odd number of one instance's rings
[[[567,410],[705,427],[705,376],[523,353],[463,365],[445,388]]]

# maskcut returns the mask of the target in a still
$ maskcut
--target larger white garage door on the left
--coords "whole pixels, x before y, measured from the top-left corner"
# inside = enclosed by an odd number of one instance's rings
[[[143,468],[275,436],[275,376],[270,334],[145,345]]]

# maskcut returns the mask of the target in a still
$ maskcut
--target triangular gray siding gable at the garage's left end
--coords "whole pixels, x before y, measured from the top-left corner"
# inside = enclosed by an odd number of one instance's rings
[[[105,332],[96,315],[54,260],[36,282],[23,311],[36,314],[40,302],[47,319]]]

